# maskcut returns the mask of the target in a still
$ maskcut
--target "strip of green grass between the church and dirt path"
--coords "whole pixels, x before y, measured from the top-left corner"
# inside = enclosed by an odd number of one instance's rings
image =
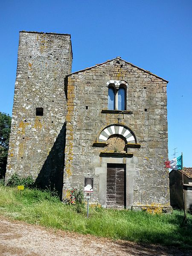
[[[130,210],[90,209],[79,214],[49,192],[0,186],[0,214],[31,224],[40,224],[82,234],[123,239],[148,244],[163,244],[192,249],[192,215],[182,226],[183,212],[154,214]]]

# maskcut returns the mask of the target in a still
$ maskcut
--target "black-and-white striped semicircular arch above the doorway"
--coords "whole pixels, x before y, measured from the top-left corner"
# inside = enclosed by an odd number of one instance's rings
[[[130,128],[121,124],[112,124],[105,127],[97,136],[97,142],[105,143],[111,135],[120,135],[127,143],[137,144],[136,136]]]

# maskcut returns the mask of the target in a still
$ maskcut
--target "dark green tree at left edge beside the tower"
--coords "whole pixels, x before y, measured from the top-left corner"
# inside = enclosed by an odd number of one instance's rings
[[[9,114],[0,112],[0,179],[5,177],[6,173],[11,120]]]

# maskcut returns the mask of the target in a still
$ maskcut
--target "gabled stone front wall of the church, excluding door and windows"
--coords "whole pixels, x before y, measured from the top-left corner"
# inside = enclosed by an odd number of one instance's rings
[[[108,109],[111,79],[128,83],[126,103],[132,114],[102,111]],[[94,178],[91,200],[105,207],[107,163],[124,163],[127,208],[169,208],[169,172],[163,164],[163,157],[168,157],[166,84],[121,59],[68,76],[64,195],[71,187],[83,186],[84,177],[90,175]],[[99,132],[110,124],[124,124],[134,132],[141,147],[128,149],[133,157],[99,156],[102,151],[115,151],[114,143],[110,149],[93,146]]]

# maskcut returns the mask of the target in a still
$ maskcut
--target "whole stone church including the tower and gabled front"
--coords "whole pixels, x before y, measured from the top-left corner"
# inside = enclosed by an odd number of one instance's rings
[[[20,32],[6,181],[84,186],[108,208],[170,211],[168,81],[116,57],[71,73],[70,35]]]

